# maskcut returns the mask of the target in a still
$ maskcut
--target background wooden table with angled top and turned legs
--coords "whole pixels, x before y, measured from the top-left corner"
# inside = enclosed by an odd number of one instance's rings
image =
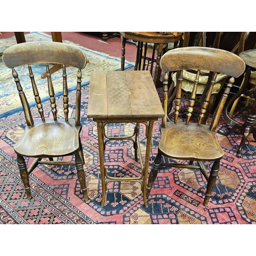
[[[178,44],[178,42],[181,40],[183,33],[174,32],[173,34],[163,35],[159,32],[120,32],[120,34],[122,40],[121,70],[124,70],[126,39],[133,39],[139,42],[158,44],[154,82],[157,87],[162,87],[162,83],[160,82],[161,70],[159,70],[159,61],[162,56],[163,45],[169,42]],[[138,63],[141,60],[141,51],[141,46],[138,46],[135,70],[138,69]]]

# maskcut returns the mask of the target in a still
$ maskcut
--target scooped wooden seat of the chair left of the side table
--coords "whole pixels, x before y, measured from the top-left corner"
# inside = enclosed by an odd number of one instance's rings
[[[14,145],[14,151],[27,157],[71,155],[79,150],[80,129],[73,120],[35,120],[33,126],[26,126],[24,134]]]

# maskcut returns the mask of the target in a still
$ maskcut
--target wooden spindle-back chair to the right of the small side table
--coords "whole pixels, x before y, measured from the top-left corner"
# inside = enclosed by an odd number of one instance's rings
[[[221,115],[223,106],[227,99],[233,77],[239,77],[245,69],[244,61],[230,52],[208,47],[184,47],[177,48],[165,53],[160,60],[161,70],[164,72],[163,82],[163,109],[165,117],[162,119],[161,139],[158,147],[158,154],[154,160],[151,173],[147,183],[147,197],[150,195],[153,183],[157,177],[161,165],[200,169],[206,178],[207,189],[204,198],[204,206],[207,206],[219,172],[220,160],[224,153],[216,139],[216,127]],[[187,101],[186,118],[180,116],[185,113],[181,107],[181,90],[183,82],[183,70],[197,70],[194,88],[190,99]],[[210,86],[207,90],[205,100],[200,111],[194,110],[196,91],[199,82],[200,70],[213,72]],[[167,122],[167,92],[168,72],[178,71],[178,85],[175,99],[174,121]],[[219,105],[209,125],[202,124],[202,120],[209,106],[209,100],[218,73],[227,74],[231,78],[228,81],[225,92],[220,98]],[[183,102],[185,103],[185,101]],[[199,114],[198,114],[199,113]],[[182,118],[182,119],[180,119]],[[197,121],[197,122],[196,122]],[[162,156],[179,159],[181,162],[161,162]],[[189,161],[189,162],[186,162]],[[214,162],[208,177],[203,161]],[[198,164],[195,165],[194,162]]]

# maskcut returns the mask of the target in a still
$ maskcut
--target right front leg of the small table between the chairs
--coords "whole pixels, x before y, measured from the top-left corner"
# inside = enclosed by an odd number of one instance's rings
[[[147,184],[148,163],[150,161],[153,127],[154,127],[154,121],[150,121],[148,123],[145,162],[144,162],[144,168],[142,170],[142,172],[143,172],[143,191],[142,191],[142,195],[143,195],[143,201],[144,201],[144,206],[145,207],[148,206],[147,205],[147,199],[146,199],[146,184]]]

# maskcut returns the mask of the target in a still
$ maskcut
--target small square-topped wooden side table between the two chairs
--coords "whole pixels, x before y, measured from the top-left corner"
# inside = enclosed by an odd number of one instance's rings
[[[146,181],[148,162],[153,134],[154,121],[164,116],[155,84],[150,71],[92,71],[90,76],[88,118],[97,122],[99,162],[102,184],[102,201],[104,206],[106,199],[106,187],[110,181],[136,181],[142,186],[143,201],[147,207]],[[110,177],[104,166],[104,147],[106,138],[105,125],[108,123],[135,123],[133,136],[135,151],[141,163],[141,175],[139,177],[118,178]],[[139,124],[144,123],[146,129],[146,153],[144,163],[142,161],[139,143]],[[129,137],[109,138],[131,139]],[[135,153],[136,160],[136,153]],[[142,181],[141,181],[142,180]]]

